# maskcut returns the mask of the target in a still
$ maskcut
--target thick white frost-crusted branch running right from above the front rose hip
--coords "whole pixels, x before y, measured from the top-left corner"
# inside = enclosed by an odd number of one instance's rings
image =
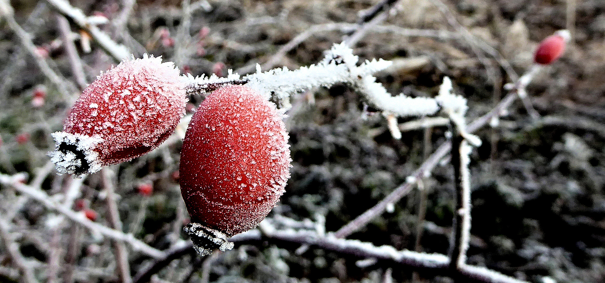
[[[185,77],[190,85],[188,89],[197,91],[214,91],[226,83],[243,84],[273,99],[281,108],[289,108],[289,97],[313,87],[330,87],[335,83],[347,83],[356,91],[362,93],[376,108],[396,116],[430,115],[439,110],[434,99],[426,97],[407,97],[402,94],[391,96],[381,83],[376,82],[373,73],[384,70],[391,65],[383,59],[365,60],[358,65],[359,57],[345,44],[335,44],[327,51],[321,62],[301,67],[297,70],[275,68],[262,72],[257,65],[257,72],[240,77],[232,74],[226,78]]]

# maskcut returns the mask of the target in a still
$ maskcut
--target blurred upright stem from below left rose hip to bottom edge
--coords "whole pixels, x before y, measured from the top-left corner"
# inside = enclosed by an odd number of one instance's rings
[[[120,221],[120,213],[117,208],[115,186],[113,183],[113,172],[107,167],[101,169],[102,183],[105,187],[105,201],[107,204],[107,222],[110,228],[122,231],[122,221]],[[124,242],[118,239],[112,239],[111,244],[114,247],[114,253],[116,255],[117,273],[120,282],[130,283],[132,278],[130,277],[130,267],[128,265],[128,251]]]

